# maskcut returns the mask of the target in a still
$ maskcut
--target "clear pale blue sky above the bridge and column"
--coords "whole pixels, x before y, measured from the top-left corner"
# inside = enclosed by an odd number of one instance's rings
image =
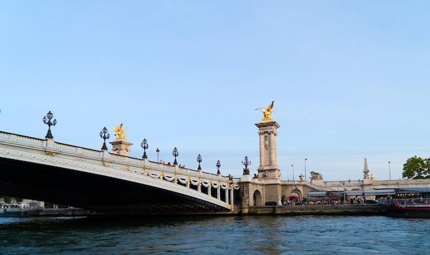
[[[429,1],[1,1],[0,130],[223,175],[259,165],[269,106],[282,180],[401,178],[428,158]],[[109,151],[111,145],[108,144]],[[391,163],[388,163],[391,162]]]

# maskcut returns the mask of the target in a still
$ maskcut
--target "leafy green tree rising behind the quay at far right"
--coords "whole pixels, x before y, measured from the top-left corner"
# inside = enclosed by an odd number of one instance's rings
[[[422,159],[413,156],[408,158],[403,164],[402,177],[407,179],[427,179],[430,178],[430,158]]]

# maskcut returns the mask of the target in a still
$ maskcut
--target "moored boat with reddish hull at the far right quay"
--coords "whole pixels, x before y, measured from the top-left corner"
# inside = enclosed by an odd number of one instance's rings
[[[430,199],[392,199],[387,205],[387,216],[430,218]]]

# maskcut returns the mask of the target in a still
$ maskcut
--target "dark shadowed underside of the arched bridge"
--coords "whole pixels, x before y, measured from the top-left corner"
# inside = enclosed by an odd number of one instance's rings
[[[0,195],[64,204],[95,214],[230,213],[174,191],[72,169],[0,158]]]

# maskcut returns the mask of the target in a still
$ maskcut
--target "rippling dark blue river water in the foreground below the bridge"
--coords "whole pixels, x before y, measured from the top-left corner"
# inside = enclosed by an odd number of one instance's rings
[[[430,219],[0,218],[0,254],[428,254]]]

